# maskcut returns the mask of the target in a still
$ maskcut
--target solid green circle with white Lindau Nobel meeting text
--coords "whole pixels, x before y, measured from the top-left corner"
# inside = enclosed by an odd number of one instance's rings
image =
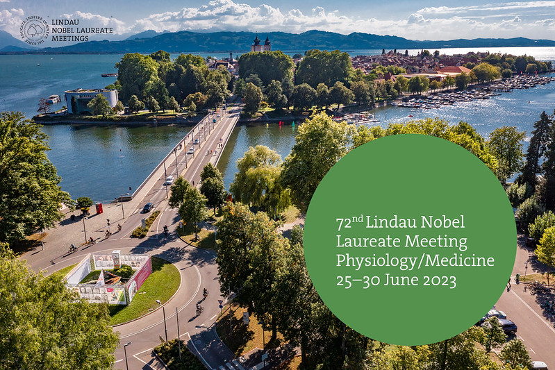
[[[511,203],[461,146],[392,135],[345,155],[310,201],[308,273],[359,333],[430,344],[479,321],[501,296],[516,254]]]

